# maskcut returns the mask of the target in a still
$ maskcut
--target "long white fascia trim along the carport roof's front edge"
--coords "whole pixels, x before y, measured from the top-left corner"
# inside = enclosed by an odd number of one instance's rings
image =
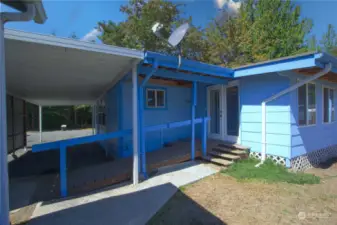
[[[60,38],[52,35],[36,34],[12,29],[5,29],[5,39],[33,42],[37,44],[52,45],[64,48],[74,48],[84,51],[100,52],[136,59],[144,59],[143,51],[135,49],[128,49],[105,44],[96,44],[70,38]]]

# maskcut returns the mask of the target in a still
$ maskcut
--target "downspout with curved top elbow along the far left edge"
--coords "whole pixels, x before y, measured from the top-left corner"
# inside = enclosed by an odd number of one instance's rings
[[[9,221],[9,185],[7,162],[7,121],[6,121],[6,73],[5,73],[5,29],[9,21],[29,21],[35,17],[33,4],[26,4],[24,13],[0,13],[0,224],[8,225]]]

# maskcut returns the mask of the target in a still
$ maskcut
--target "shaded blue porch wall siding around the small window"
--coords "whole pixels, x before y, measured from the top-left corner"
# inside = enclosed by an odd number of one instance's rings
[[[144,109],[144,126],[159,125],[171,122],[178,122],[191,119],[191,88],[162,86],[149,84],[151,88],[165,88],[167,98],[167,108],[161,110]],[[205,86],[198,85],[198,102],[197,102],[197,117],[201,116],[204,111],[206,102]],[[123,129],[132,128],[132,84],[130,81],[125,81],[123,84]],[[201,93],[199,93],[201,90]],[[204,93],[202,93],[204,92]],[[203,106],[200,106],[203,105]],[[205,114],[202,114],[205,115]],[[196,126],[196,137],[201,136],[201,125]],[[146,151],[154,151],[162,148],[162,144],[177,141],[191,137],[191,127],[179,127],[162,132],[148,132],[145,135]],[[124,139],[122,156],[130,156],[132,154],[132,137]]]

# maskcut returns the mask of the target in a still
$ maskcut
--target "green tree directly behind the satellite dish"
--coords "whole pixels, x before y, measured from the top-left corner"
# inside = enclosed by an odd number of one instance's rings
[[[207,46],[204,32],[200,27],[192,25],[192,18],[180,16],[183,6],[164,0],[130,0],[128,4],[120,8],[121,12],[127,16],[125,22],[102,21],[98,23],[102,31],[99,38],[105,44],[176,55],[178,54],[176,49],[170,47],[164,39],[167,39],[177,26],[189,22],[191,28],[182,44],[183,56],[207,61],[204,55]],[[151,28],[156,22],[164,25],[163,39],[152,33]]]

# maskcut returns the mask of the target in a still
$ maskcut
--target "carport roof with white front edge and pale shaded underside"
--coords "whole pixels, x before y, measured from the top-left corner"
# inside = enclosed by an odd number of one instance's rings
[[[5,30],[7,93],[42,105],[92,104],[134,63],[138,50]]]

